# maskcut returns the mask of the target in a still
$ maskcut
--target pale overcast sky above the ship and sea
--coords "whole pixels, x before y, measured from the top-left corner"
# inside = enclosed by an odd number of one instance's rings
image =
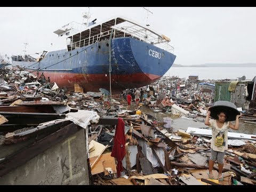
[[[171,38],[175,64],[256,63],[256,7],[90,7],[91,20],[123,15]],[[53,33],[83,22],[87,7],[0,7],[1,54],[30,54],[65,49]],[[53,45],[51,46],[51,43]]]

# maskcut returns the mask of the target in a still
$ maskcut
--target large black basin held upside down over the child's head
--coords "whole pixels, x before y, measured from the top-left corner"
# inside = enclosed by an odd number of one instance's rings
[[[219,112],[226,112],[226,122],[235,121],[236,116],[240,115],[240,112],[237,110],[235,104],[229,101],[216,101],[209,108],[209,111],[211,111],[210,116],[213,119],[218,119]]]

